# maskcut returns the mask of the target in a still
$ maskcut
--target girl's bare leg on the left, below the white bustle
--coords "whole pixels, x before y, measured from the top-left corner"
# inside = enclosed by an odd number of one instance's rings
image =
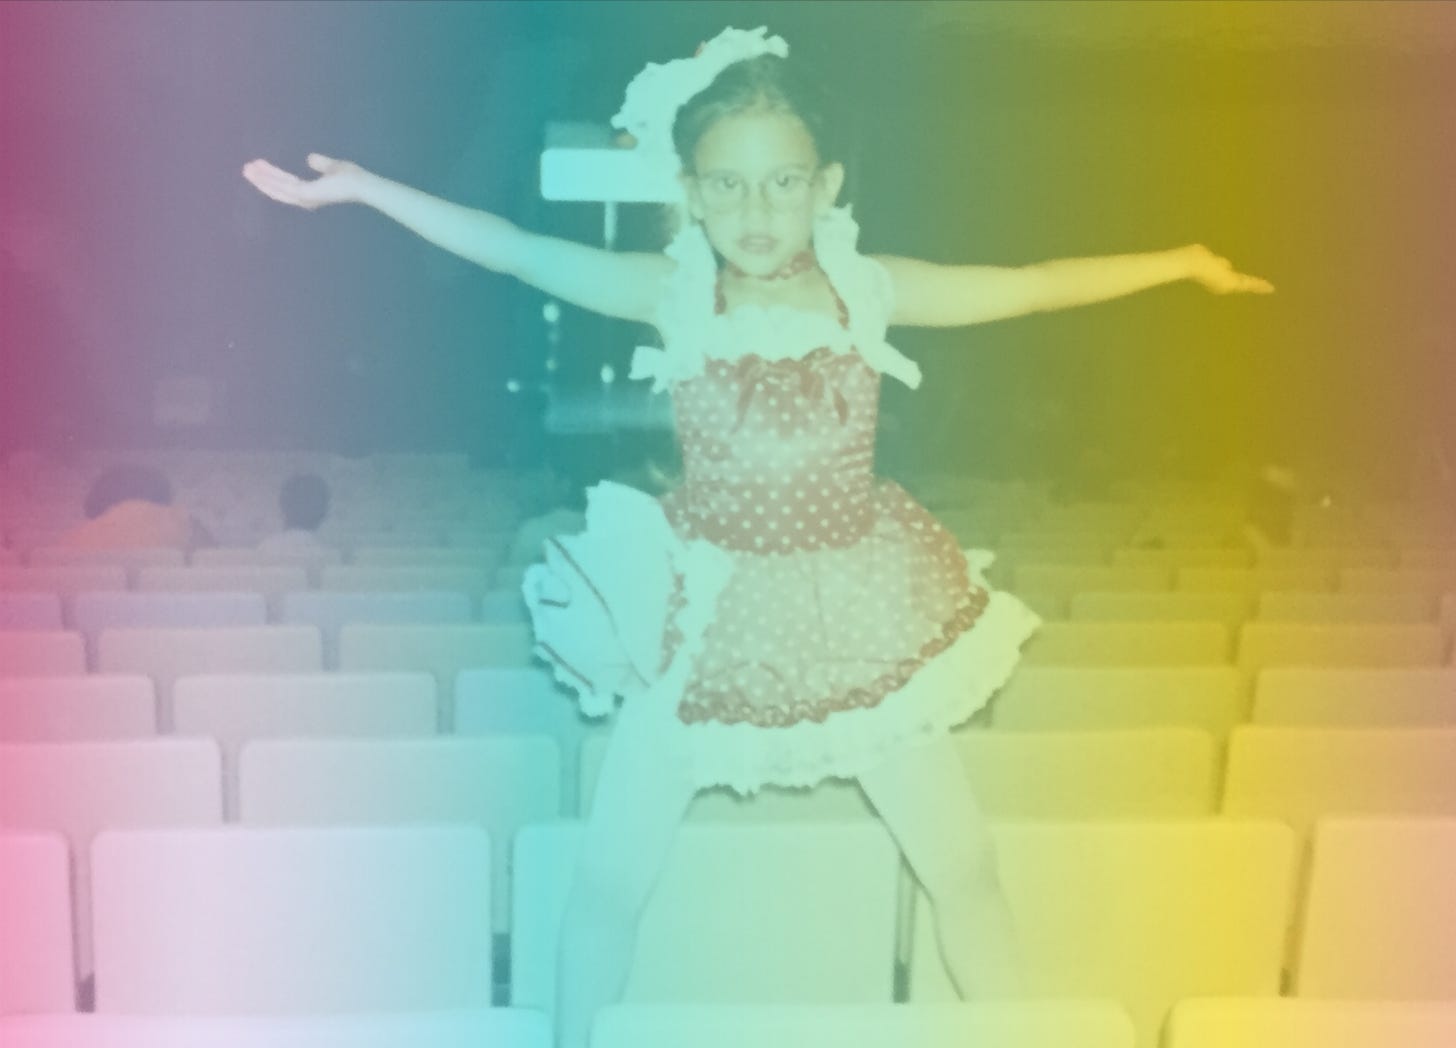
[[[556,1044],[587,1048],[591,1022],[626,985],[638,918],[693,799],[689,763],[661,713],[623,703],[597,779],[562,917]]]

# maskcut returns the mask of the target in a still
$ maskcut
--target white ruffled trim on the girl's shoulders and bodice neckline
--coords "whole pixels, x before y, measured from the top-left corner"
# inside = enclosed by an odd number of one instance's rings
[[[700,376],[708,358],[799,360],[828,346],[836,354],[858,351],[881,374],[919,387],[919,365],[885,342],[894,311],[890,274],[856,250],[858,240],[859,226],[847,207],[831,208],[814,224],[820,268],[849,307],[844,330],[833,317],[791,306],[740,306],[715,314],[718,263],[702,227],[689,223],[667,247],[677,268],[667,278],[655,319],[664,348],[639,346],[630,377],[652,378],[652,390],[661,392]]]

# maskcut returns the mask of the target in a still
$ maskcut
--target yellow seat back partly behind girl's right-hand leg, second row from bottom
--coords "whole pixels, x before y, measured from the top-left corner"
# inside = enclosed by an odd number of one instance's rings
[[[1034,997],[1109,997],[1158,1048],[1176,1001],[1277,996],[1293,834],[1268,821],[999,822],[1000,882]],[[955,991],[917,898],[910,1001]]]

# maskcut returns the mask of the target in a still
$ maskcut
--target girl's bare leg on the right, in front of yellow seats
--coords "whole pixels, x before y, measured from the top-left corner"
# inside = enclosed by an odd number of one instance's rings
[[[930,897],[941,956],[961,999],[1024,996],[994,846],[951,739],[906,747],[859,785]]]

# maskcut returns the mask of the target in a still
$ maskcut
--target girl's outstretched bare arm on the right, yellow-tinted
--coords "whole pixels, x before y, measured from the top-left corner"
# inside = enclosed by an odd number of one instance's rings
[[[881,255],[895,291],[894,325],[957,328],[1088,306],[1134,291],[1192,279],[1210,291],[1268,294],[1274,285],[1246,277],[1203,245],[1144,255],[1053,259],[1028,266],[946,266]]]

